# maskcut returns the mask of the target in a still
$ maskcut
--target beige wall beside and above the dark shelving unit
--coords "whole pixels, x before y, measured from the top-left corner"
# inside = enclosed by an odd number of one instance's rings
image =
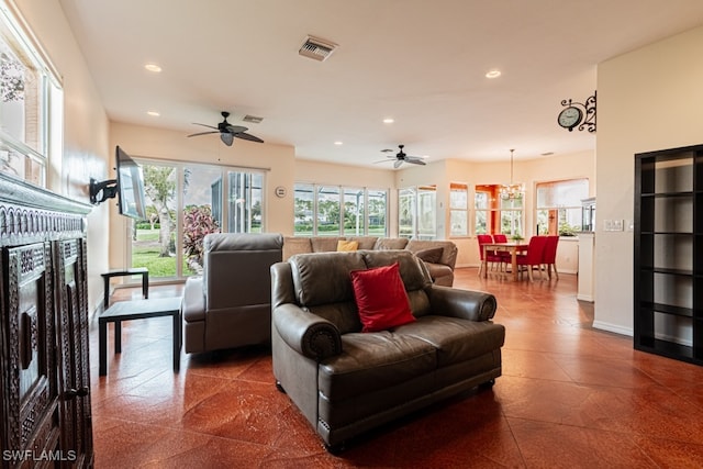
[[[596,327],[633,333],[633,233],[603,232],[634,215],[634,155],[703,143],[703,27],[598,68]]]

